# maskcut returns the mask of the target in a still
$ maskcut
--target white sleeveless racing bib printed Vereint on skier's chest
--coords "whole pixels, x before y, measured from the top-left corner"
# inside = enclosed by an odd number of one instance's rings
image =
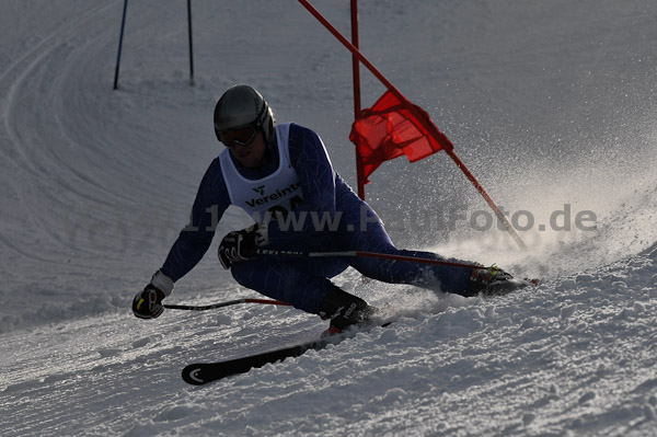
[[[292,211],[303,200],[299,177],[290,163],[289,130],[289,124],[276,126],[279,164],[274,173],[263,179],[249,180],[242,176],[228,149],[219,154],[231,204],[244,209],[255,221],[266,221],[266,211]]]

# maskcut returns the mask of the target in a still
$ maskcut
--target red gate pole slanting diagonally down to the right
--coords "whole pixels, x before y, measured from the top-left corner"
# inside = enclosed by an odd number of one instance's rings
[[[463,174],[465,174],[465,177],[468,177],[468,180],[474,185],[474,187],[476,188],[476,191],[484,197],[484,199],[486,200],[486,203],[491,206],[491,208],[493,208],[493,211],[495,212],[495,215],[497,216],[498,220],[502,221],[502,223],[504,225],[505,229],[509,232],[509,234],[511,235],[511,238],[516,241],[516,243],[518,244],[518,246],[522,250],[527,249],[527,245],[525,244],[525,242],[522,241],[522,239],[520,238],[520,235],[518,234],[518,232],[516,231],[516,229],[511,226],[511,223],[509,222],[509,220],[506,218],[506,216],[502,212],[502,210],[499,209],[499,207],[495,204],[495,202],[493,200],[493,198],[488,195],[488,193],[486,193],[486,191],[484,189],[484,187],[482,186],[482,184],[480,184],[480,182],[476,180],[476,177],[474,177],[474,175],[472,174],[472,172],[470,172],[470,170],[465,166],[465,164],[459,159],[459,157],[457,156],[457,153],[453,151],[454,146],[452,145],[452,142],[449,140],[449,138],[447,138],[447,136],[445,136],[445,134],[442,134],[434,123],[430,122],[430,119],[427,119],[427,117],[425,117],[410,101],[408,99],[406,99],[406,96],[404,94],[402,94],[400,92],[400,90],[397,90],[392,82],[390,82],[361,53],[360,50],[351,43],[349,43],[349,41],[347,38],[344,37],[343,34],[341,34],[316,9],[314,9],[309,2],[308,0],[299,0],[299,3],[301,3],[315,19],[318,19],[318,21],[320,23],[322,23],[322,25],[324,25],[324,27],[326,27],[326,30],[328,32],[331,32],[333,34],[333,36],[335,36],[349,51],[351,51],[351,54],[354,55],[354,57],[358,58],[358,60],[360,62],[362,62],[362,65],[365,67],[367,67],[368,70],[370,70],[370,72],[372,74],[374,74],[374,77],[377,79],[379,79],[381,81],[381,83],[383,83],[383,85],[385,85],[385,88],[388,88],[388,90],[390,90],[391,93],[394,94],[395,97],[397,97],[400,100],[400,102],[402,102],[402,104],[413,114],[413,116],[419,120],[419,123],[422,123],[422,125],[424,126],[425,129],[427,129],[436,139],[442,139],[442,141],[439,141],[441,145],[445,145],[447,147],[443,147],[443,150],[446,151],[446,153],[454,161],[454,163],[459,166],[459,169],[461,169],[461,171],[463,172]]]

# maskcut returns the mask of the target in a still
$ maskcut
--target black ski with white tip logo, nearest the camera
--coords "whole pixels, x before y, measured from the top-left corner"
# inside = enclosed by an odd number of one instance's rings
[[[392,322],[384,323],[380,326],[388,326],[390,323]],[[362,329],[349,330],[342,334],[330,335],[313,342],[302,343],[296,346],[265,352],[262,354],[250,355],[243,358],[229,359],[227,361],[191,364],[183,369],[183,380],[193,386],[203,386],[205,383],[217,381],[233,375],[246,373],[249,370],[263,367],[266,364],[283,361],[286,358],[301,356],[311,349],[321,350],[331,344],[337,344],[361,331]]]

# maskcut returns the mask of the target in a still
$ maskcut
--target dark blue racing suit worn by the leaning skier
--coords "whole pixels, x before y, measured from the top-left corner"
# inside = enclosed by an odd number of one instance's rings
[[[276,134],[260,168],[241,166],[229,150],[211,162],[198,188],[192,221],[161,268],[173,281],[205,255],[218,221],[231,204],[245,209],[256,221],[266,211],[287,212],[278,216],[287,221],[269,217],[269,242],[264,249],[365,251],[445,260],[435,253],[396,249],[377,214],[335,173],[313,130],[285,124],[276,126]],[[231,272],[244,287],[319,313],[323,298],[335,287],[330,278],[348,266],[377,280],[462,295],[466,295],[472,273],[470,268],[447,265],[356,256],[256,256],[233,263]]]

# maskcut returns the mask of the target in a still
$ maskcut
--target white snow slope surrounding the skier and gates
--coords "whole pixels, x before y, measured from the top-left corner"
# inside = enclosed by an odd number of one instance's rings
[[[399,159],[367,187],[393,240],[542,285],[465,299],[347,271],[337,284],[401,319],[185,384],[188,363],[326,326],[257,304],[131,314],[221,150],[216,100],[258,88],[355,184],[350,55],[296,1],[196,0],[189,87],[185,2],[131,1],[113,91],[123,1],[4,0],[0,435],[657,435],[657,2],[360,3],[364,54],[499,205],[535,219],[527,251],[496,227],[449,226],[447,212],[487,206],[445,153]],[[349,33],[346,0],[313,4]],[[361,73],[369,106],[383,88]],[[596,229],[539,229],[566,206],[572,222],[595,212]],[[245,222],[230,210],[218,233]],[[220,268],[216,245],[169,302],[257,296]]]

